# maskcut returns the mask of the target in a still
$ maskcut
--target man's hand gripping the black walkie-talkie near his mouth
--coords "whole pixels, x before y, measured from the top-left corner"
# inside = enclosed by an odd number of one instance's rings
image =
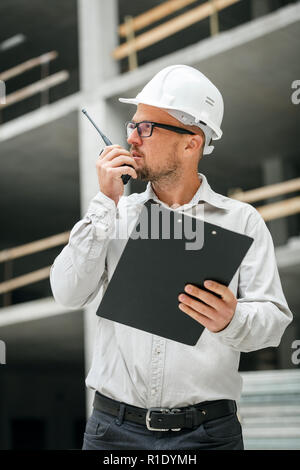
[[[122,166],[124,164],[126,166]],[[121,176],[130,175],[132,178],[137,178],[135,169],[127,165],[137,168],[134,158],[120,145],[105,147],[96,162],[100,191],[115,201],[116,206],[124,193]]]

